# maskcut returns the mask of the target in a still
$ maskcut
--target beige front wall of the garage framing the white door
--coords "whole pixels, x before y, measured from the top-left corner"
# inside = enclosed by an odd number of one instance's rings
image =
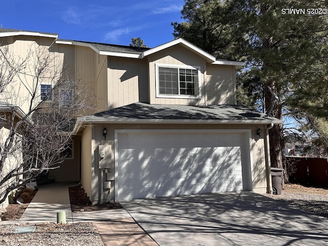
[[[106,141],[104,140],[103,136],[103,129],[108,129]],[[114,132],[115,130],[125,129],[125,130],[132,130],[132,129],[138,129],[138,130],[172,130],[172,129],[181,129],[181,130],[208,130],[208,129],[215,129],[215,130],[242,130],[242,129],[251,129],[251,137],[250,140],[250,149],[251,154],[249,156],[252,170],[253,170],[253,190],[258,193],[265,193],[267,192],[267,180],[265,176],[265,161],[264,161],[264,141],[263,138],[259,138],[258,135],[256,135],[256,130],[262,126],[259,125],[194,125],[194,124],[97,124],[94,126],[92,131],[92,153],[94,153],[94,161],[92,162],[92,170],[94,177],[97,177],[97,175],[100,174],[98,171],[98,165],[99,165],[99,145],[110,145],[111,146],[111,162],[109,165],[112,167],[109,170],[105,171],[110,173],[114,172],[114,163],[115,163],[115,147],[114,147]],[[85,130],[84,130],[85,132]],[[249,150],[244,150],[244,153],[249,153]],[[93,169],[94,167],[94,169]],[[96,174],[98,173],[98,174]],[[96,174],[96,175],[95,175]],[[91,200],[94,202],[98,202],[100,200],[100,193],[98,191],[100,190],[100,179],[93,178],[92,182],[92,194]],[[106,180],[106,176],[104,175],[104,181]],[[85,186],[85,185],[84,185]],[[110,198],[111,200],[114,200],[115,198],[115,181],[111,181],[111,189],[110,191],[104,191],[103,197],[107,199]]]

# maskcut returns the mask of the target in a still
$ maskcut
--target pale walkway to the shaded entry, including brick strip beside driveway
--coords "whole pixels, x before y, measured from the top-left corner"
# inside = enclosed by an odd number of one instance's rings
[[[72,213],[68,188],[75,183],[53,183],[38,187],[19,223],[57,222],[57,212],[65,211],[66,222],[94,222],[101,240],[107,245],[156,246],[125,209]],[[5,222],[5,223],[4,223]],[[9,224],[17,221],[1,221]]]

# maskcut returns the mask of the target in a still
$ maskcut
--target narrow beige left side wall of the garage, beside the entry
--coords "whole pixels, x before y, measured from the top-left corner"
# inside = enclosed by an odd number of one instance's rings
[[[92,152],[91,152],[91,126],[87,126],[81,136],[81,183],[89,196],[92,194]]]

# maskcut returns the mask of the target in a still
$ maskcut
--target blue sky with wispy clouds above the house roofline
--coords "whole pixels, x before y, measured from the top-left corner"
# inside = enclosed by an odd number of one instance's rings
[[[0,0],[0,26],[58,33],[59,38],[151,48],[173,40],[184,0]]]

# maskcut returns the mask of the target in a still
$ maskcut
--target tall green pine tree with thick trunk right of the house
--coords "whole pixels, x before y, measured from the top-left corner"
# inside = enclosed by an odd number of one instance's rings
[[[217,57],[247,61],[237,98],[253,95],[255,105],[263,101],[267,112],[273,106],[271,115],[279,119],[284,113],[328,118],[328,15],[311,13],[326,6],[319,0],[186,0],[184,21],[172,25],[175,37]],[[275,125],[269,137],[271,165],[284,168],[282,126]]]

